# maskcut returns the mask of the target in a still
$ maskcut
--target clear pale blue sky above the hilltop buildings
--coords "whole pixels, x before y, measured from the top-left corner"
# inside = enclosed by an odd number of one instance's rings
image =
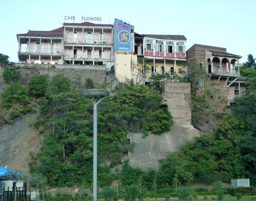
[[[65,20],[65,16],[76,19]],[[194,44],[227,48],[256,57],[256,0],[9,0],[1,3],[0,53],[17,61],[16,34],[51,31],[82,17],[101,17],[100,24],[122,19],[140,34],[184,35]],[[98,24],[99,21],[88,21]]]

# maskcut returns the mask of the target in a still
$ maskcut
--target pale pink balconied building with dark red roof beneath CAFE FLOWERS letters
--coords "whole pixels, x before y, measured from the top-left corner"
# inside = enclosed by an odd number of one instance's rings
[[[52,31],[17,34],[20,62],[113,65],[113,25],[63,23]]]

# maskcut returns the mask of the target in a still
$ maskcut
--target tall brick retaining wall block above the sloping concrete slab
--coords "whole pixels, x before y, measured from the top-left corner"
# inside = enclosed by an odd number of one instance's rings
[[[190,83],[165,82],[162,97],[173,117],[174,123],[191,124]]]

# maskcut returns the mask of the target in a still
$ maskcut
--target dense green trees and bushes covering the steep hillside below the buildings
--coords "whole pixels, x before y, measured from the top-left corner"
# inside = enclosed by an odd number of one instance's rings
[[[4,112],[0,118],[4,124],[22,114],[38,113],[36,123],[30,126],[44,136],[43,148],[36,155],[31,153],[30,173],[46,176],[51,186],[92,185],[93,100],[82,96],[81,78],[71,82],[62,74],[51,80],[47,75],[36,75],[27,85],[21,85],[20,76],[18,69],[4,70],[6,86],[0,98]],[[185,81],[196,86],[192,79]],[[84,87],[105,88],[106,85],[97,85],[87,78]],[[205,106],[205,102],[193,90],[196,88],[192,88],[194,117],[200,118],[203,111],[200,106]],[[145,137],[161,134],[169,130],[172,116],[162,107],[158,90],[136,85],[116,88],[112,94],[98,106],[98,186],[109,186],[114,180],[119,180],[122,186],[137,184],[148,190],[191,182],[230,182],[232,178],[250,178],[251,183],[256,182],[254,93],[237,98],[237,106],[229,108],[231,114],[218,122],[219,128],[212,135],[187,142],[181,151],[160,160],[159,171],[148,167],[148,172],[132,168],[129,160],[121,161],[121,155],[132,149],[126,134],[143,132]],[[121,171],[118,168],[116,173],[110,171],[121,163]]]

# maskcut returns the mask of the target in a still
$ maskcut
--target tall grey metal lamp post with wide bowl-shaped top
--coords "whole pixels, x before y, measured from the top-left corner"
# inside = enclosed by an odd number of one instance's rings
[[[93,201],[97,201],[97,105],[109,91],[104,89],[87,89],[81,91],[87,98],[94,98],[93,104]],[[97,101],[97,99],[99,99]]]

